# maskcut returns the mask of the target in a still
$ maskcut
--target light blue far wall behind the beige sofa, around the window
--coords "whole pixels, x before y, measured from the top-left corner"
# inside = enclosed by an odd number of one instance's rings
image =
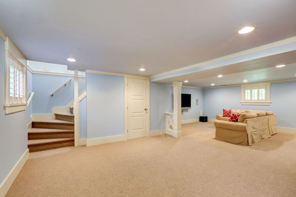
[[[222,114],[223,108],[273,111],[277,115],[277,126],[296,128],[293,116],[296,111],[296,81],[271,83],[270,97],[271,105],[241,105],[240,86],[204,89],[204,115],[215,119],[217,114]]]

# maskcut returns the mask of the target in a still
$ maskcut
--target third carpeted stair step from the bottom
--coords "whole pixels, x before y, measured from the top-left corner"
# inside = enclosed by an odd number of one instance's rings
[[[32,121],[32,128],[67,129],[74,130],[74,122],[62,120]]]

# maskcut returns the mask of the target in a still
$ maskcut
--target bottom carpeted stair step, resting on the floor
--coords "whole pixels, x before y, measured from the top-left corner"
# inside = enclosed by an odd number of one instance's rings
[[[74,146],[74,138],[57,139],[30,139],[28,140],[29,152]]]

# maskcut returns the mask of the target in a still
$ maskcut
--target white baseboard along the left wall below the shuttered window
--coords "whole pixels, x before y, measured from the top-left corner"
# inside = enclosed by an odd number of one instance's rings
[[[17,178],[17,175],[20,173],[20,170],[22,170],[22,167],[25,165],[28,158],[29,158],[29,149],[25,151],[25,153],[18,160],[18,162],[15,164],[15,166],[12,168],[12,170],[9,172],[7,177],[4,179],[4,181],[0,185],[0,197],[4,197],[6,195],[10,186],[15,181],[15,178]]]

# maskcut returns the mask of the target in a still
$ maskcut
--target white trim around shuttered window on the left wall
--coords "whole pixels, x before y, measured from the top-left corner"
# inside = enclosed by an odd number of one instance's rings
[[[24,95],[23,99],[25,102],[22,103],[9,103],[9,58],[12,58],[16,61],[20,66],[23,67],[23,74],[25,75],[24,80]],[[15,113],[19,111],[23,111],[27,109],[27,68],[24,64],[22,64],[17,58],[15,58],[8,50],[5,50],[5,114]]]

